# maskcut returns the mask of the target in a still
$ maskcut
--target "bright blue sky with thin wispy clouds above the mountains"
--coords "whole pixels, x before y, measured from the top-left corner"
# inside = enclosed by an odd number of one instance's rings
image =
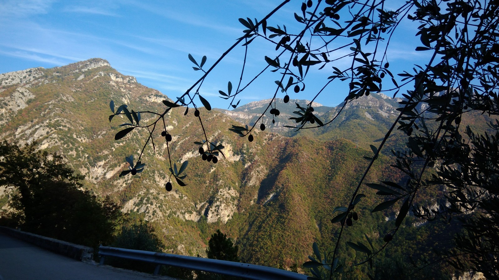
[[[398,0],[395,3],[401,2]],[[202,74],[192,70],[191,53],[198,61],[208,57],[211,66],[245,29],[240,17],[261,19],[280,3],[279,0],[235,1],[146,1],[146,0],[1,0],[0,73],[42,66],[51,68],[100,57],[125,75],[132,75],[145,86],[170,98],[180,96]],[[293,27],[293,12],[301,1],[292,0],[268,21],[268,25]],[[401,26],[400,34],[413,26]],[[414,34],[414,33],[412,33]],[[394,72],[421,60],[415,52],[414,35],[391,43],[390,63]],[[265,55],[275,55],[264,42],[250,45],[246,79],[265,64]],[[218,97],[227,82],[239,81],[244,48],[239,47],[224,59],[207,78],[202,95],[212,107],[227,108]],[[412,66],[411,66],[412,68]],[[304,92],[291,98],[311,96],[331,75],[330,68],[311,69]],[[254,75],[253,75],[254,76]],[[274,74],[248,88],[241,104],[269,98],[275,91]],[[347,84],[336,85],[316,101],[327,106],[339,104],[347,94]],[[282,97],[284,94],[279,94]]]

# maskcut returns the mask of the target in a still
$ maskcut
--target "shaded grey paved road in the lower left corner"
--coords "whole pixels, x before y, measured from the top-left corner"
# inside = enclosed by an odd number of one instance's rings
[[[86,264],[0,233],[0,280],[173,280]]]

